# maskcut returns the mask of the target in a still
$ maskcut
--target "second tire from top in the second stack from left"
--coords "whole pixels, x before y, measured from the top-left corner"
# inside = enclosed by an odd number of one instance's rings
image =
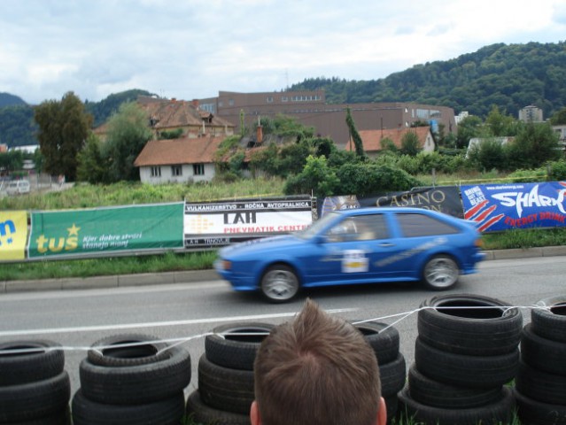
[[[84,397],[108,405],[143,404],[173,397],[190,383],[190,355],[179,346],[166,352],[167,359],[138,366],[105,367],[82,359],[79,376]]]

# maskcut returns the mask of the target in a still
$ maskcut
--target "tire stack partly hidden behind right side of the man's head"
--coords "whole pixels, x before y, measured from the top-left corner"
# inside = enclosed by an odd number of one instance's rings
[[[397,393],[405,385],[407,364],[399,352],[399,331],[378,321],[353,321],[368,344],[376,353],[381,392],[387,406],[387,422],[391,423],[397,414]]]

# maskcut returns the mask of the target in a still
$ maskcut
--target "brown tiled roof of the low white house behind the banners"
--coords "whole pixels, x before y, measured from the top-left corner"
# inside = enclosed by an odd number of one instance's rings
[[[210,164],[225,137],[150,140],[134,161],[135,166]]]

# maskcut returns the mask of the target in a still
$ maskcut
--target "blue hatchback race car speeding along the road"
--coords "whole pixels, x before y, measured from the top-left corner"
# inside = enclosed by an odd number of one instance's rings
[[[215,270],[271,302],[300,288],[423,281],[447,290],[485,258],[475,223],[419,208],[335,211],[303,231],[222,248]]]

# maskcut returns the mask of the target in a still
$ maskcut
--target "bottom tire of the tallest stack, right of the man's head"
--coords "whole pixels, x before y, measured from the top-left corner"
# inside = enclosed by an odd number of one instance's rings
[[[399,412],[410,423],[430,425],[500,425],[510,423],[515,408],[513,394],[507,387],[501,388],[500,400],[490,405],[469,409],[442,409],[426,406],[411,398],[408,388],[399,391]]]

